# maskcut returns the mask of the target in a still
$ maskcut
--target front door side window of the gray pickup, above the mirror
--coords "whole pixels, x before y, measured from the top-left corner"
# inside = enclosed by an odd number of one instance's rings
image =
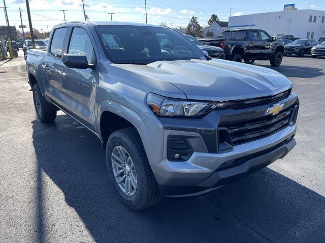
[[[95,64],[95,53],[85,29],[78,27],[73,29],[68,53],[83,54],[87,57],[89,64]]]

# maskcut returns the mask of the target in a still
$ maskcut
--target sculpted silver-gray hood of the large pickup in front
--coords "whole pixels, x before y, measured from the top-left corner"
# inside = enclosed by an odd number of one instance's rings
[[[148,65],[115,64],[169,82],[188,99],[226,101],[271,96],[292,87],[282,74],[264,67],[226,60],[158,61]]]

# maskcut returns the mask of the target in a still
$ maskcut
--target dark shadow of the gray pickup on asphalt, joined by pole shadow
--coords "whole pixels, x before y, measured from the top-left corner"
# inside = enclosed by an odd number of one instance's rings
[[[46,241],[51,227],[45,220],[44,173],[96,242],[253,242],[283,237],[294,242],[296,227],[304,219],[319,209],[324,217],[324,197],[268,168],[205,196],[166,198],[134,212],[121,204],[109,182],[98,138],[67,115],[58,115],[52,124],[34,120],[32,129],[40,241]]]

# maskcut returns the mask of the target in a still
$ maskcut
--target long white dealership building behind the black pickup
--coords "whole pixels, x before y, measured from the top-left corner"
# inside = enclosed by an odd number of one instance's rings
[[[325,36],[325,11],[293,9],[229,18],[228,29],[243,28],[264,29],[272,36],[293,34],[317,41],[319,36]]]

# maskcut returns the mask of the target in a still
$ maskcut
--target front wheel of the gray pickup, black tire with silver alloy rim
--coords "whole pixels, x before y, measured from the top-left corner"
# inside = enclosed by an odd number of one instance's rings
[[[123,157],[124,159],[121,159]],[[124,166],[125,161],[129,161],[128,166]],[[144,210],[161,199],[158,184],[135,128],[125,128],[111,134],[106,145],[106,164],[110,180],[117,189],[119,198],[129,209]],[[118,180],[122,182],[118,183]]]

